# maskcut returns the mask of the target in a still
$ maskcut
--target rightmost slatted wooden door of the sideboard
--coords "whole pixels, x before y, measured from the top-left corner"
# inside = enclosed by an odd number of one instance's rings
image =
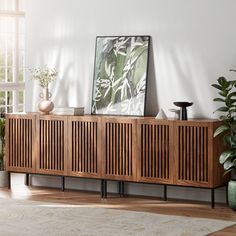
[[[174,142],[176,184],[213,187],[213,123],[176,121]]]

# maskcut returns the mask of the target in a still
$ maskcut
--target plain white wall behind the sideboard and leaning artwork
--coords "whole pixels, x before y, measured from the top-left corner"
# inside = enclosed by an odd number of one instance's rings
[[[236,68],[235,0],[30,0],[26,1],[26,65],[56,67],[56,106],[90,112],[95,37],[151,35],[147,111],[193,101],[192,117],[214,118],[210,86]],[[26,84],[26,111],[37,110],[39,88]]]

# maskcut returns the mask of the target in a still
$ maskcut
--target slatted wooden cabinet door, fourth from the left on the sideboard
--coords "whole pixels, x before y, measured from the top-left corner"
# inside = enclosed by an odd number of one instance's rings
[[[103,117],[102,122],[103,178],[136,181],[136,119]]]

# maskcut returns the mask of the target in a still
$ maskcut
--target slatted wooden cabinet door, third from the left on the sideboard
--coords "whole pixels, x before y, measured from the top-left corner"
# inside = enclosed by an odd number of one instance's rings
[[[101,122],[96,116],[68,118],[70,176],[101,177]]]

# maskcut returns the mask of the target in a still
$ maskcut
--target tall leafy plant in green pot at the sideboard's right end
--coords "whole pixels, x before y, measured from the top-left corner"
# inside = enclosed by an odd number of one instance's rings
[[[219,161],[224,167],[225,174],[231,173],[227,190],[228,203],[232,209],[236,210],[236,80],[227,80],[225,77],[220,77],[217,82],[212,86],[219,91],[220,97],[213,101],[222,104],[216,110],[222,113],[219,117],[222,124],[215,130],[214,137],[222,135],[223,142],[226,145]]]

